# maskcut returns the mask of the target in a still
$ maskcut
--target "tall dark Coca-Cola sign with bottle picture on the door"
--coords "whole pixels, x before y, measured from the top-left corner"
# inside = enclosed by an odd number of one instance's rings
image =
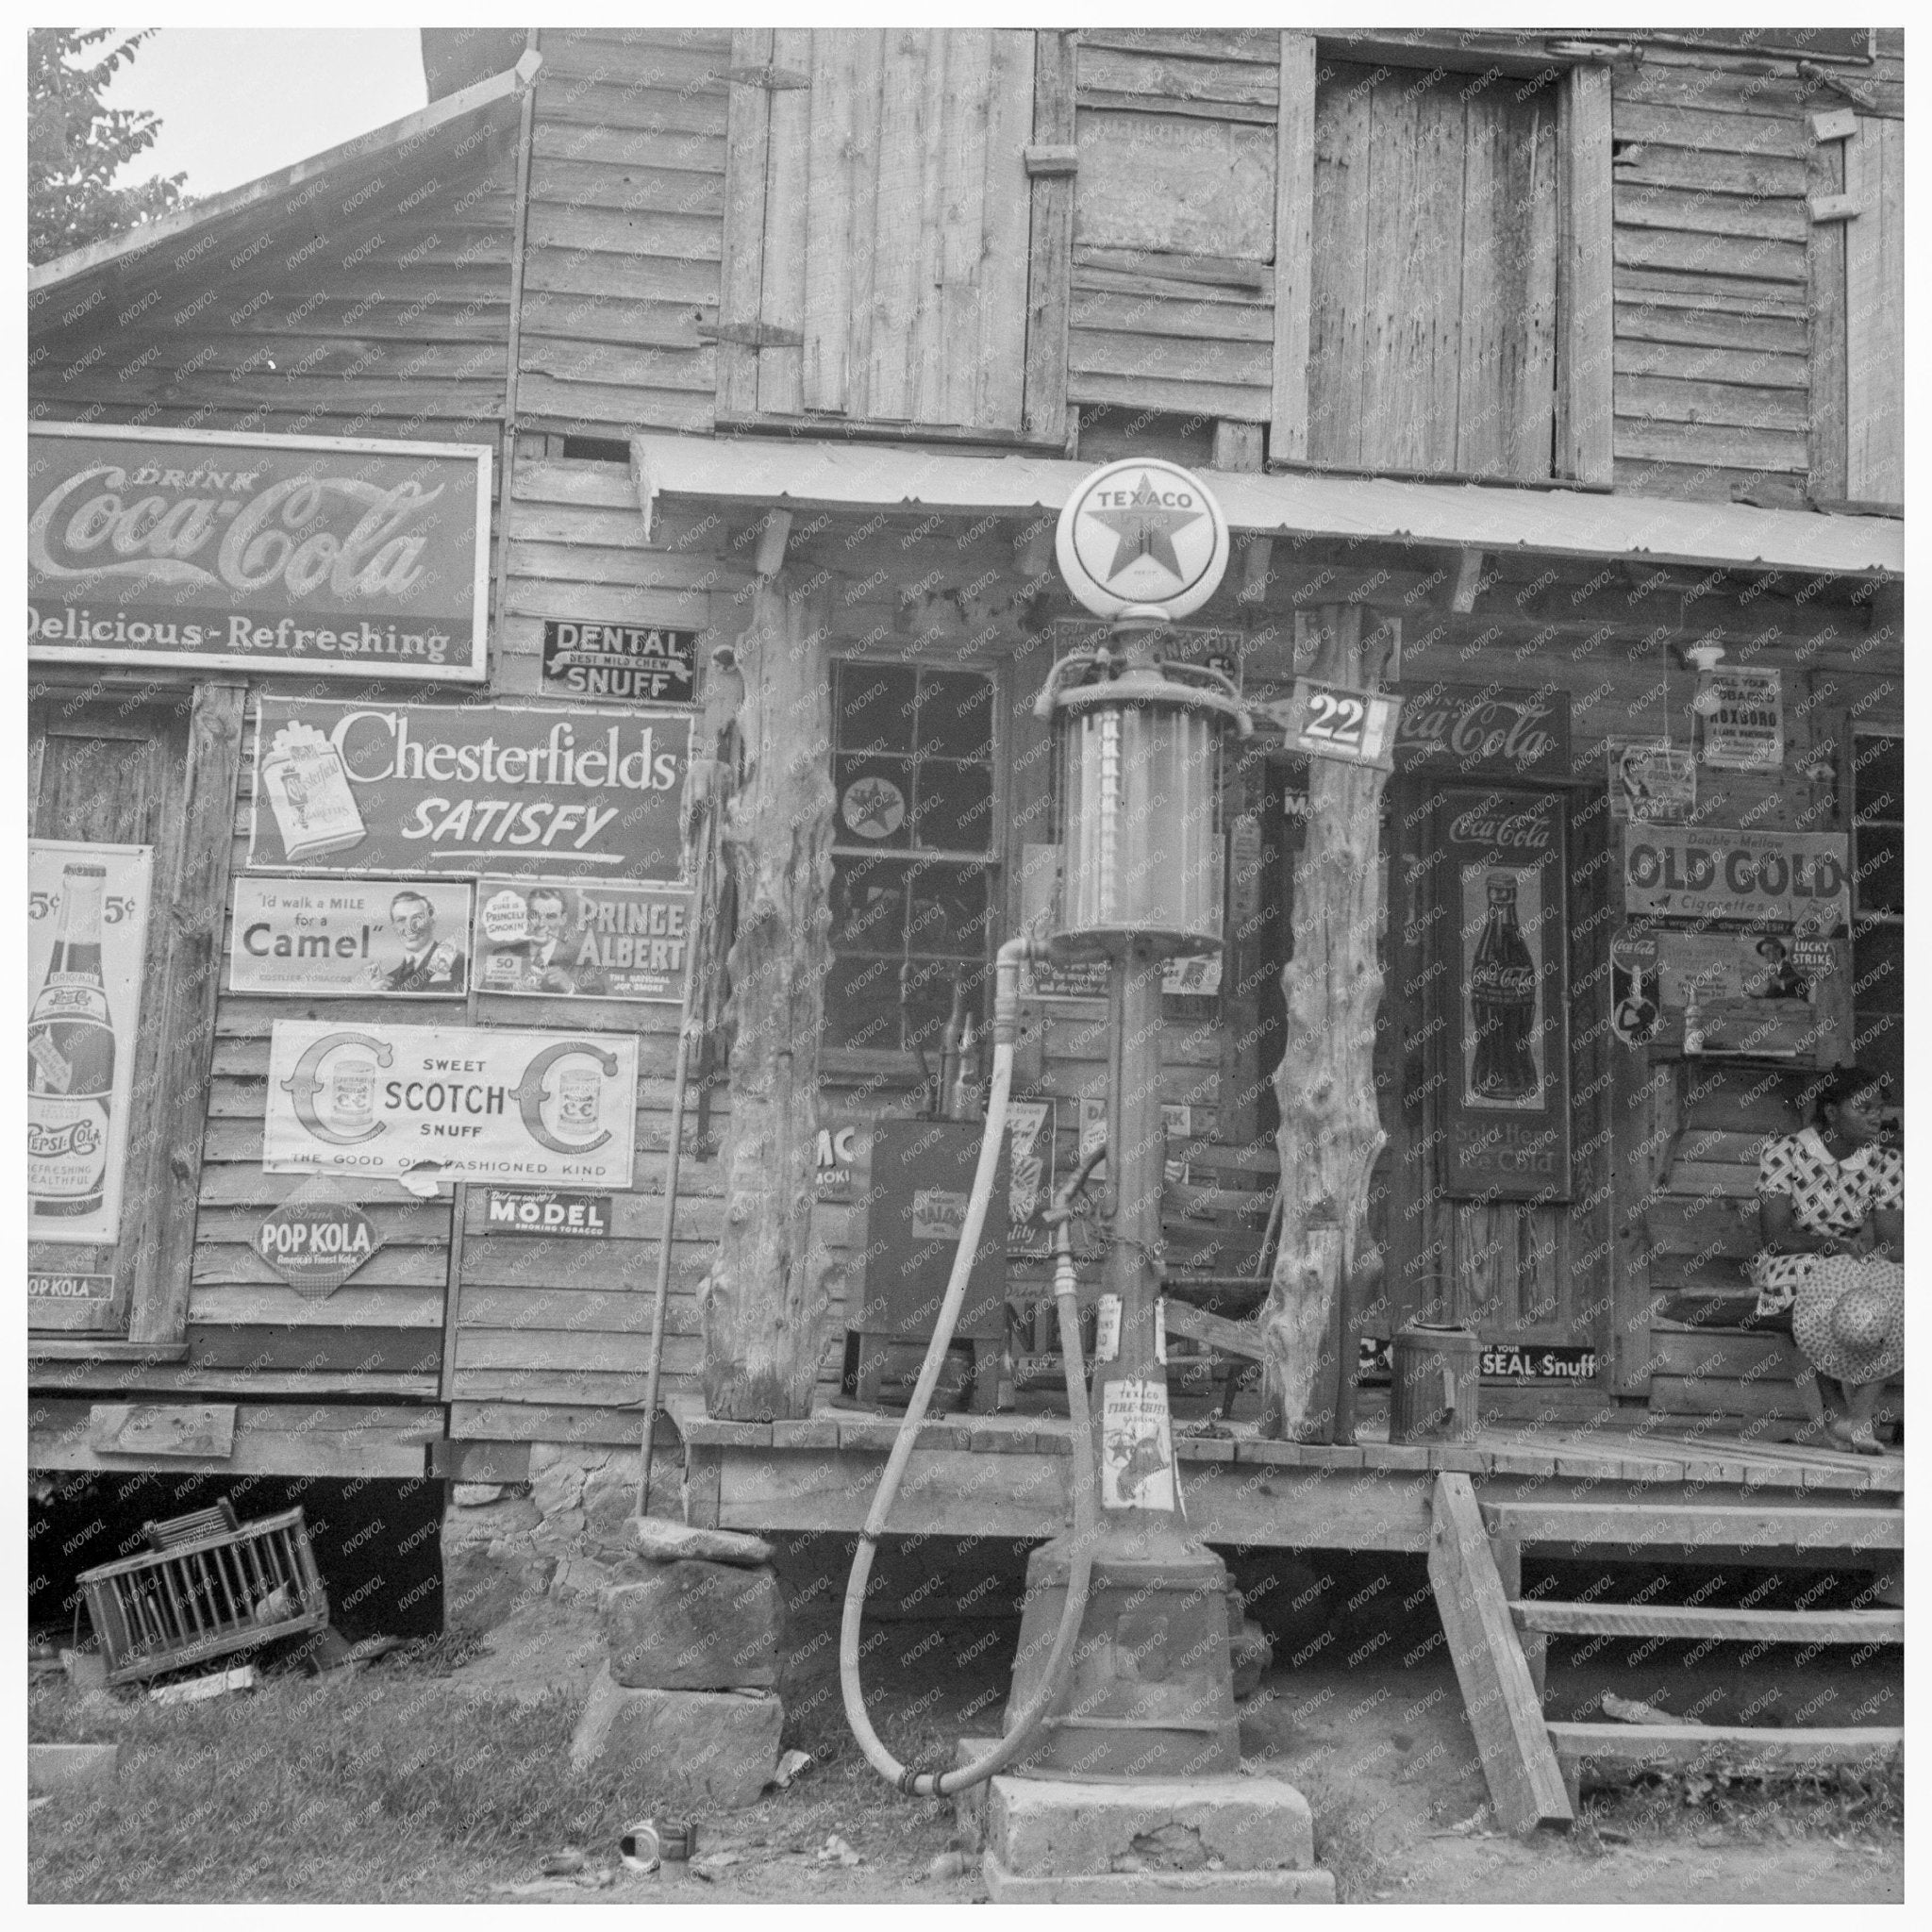
[[[1571,1190],[1565,815],[1557,794],[1445,790],[1447,1188]]]

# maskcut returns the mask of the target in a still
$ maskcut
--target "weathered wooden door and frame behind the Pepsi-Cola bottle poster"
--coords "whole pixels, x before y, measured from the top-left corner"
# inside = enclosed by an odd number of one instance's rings
[[[178,827],[170,825],[168,804],[180,794],[185,742],[185,701],[182,709],[168,705],[128,709],[104,699],[97,703],[46,699],[33,709],[29,837],[75,844],[156,848],[147,908],[141,1026],[133,1041],[135,1119],[128,1140],[120,1240],[99,1246],[43,1240],[27,1244],[31,1275],[108,1277],[112,1293],[75,1298],[31,1296],[29,1321],[35,1329],[89,1335],[128,1331],[135,1262],[145,1223],[137,1182],[149,1138],[143,1132],[143,1115],[155,1092],[156,1045],[164,1007],[158,997],[168,931],[164,881],[172,873],[162,869],[162,846],[170,842],[172,835],[178,850]]]

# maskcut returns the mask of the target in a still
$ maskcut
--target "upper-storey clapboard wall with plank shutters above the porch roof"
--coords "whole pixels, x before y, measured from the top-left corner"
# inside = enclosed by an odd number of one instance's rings
[[[1884,39],[543,29],[520,417],[1895,502]]]

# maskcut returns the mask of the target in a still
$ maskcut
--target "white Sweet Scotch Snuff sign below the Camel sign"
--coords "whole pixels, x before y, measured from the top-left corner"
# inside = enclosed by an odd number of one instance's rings
[[[276,1020],[269,1173],[628,1188],[634,1034]]]

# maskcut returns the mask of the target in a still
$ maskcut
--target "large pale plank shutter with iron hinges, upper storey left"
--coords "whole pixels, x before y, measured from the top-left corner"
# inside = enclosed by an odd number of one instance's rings
[[[742,31],[732,83],[719,417],[1020,435],[1034,35]]]

